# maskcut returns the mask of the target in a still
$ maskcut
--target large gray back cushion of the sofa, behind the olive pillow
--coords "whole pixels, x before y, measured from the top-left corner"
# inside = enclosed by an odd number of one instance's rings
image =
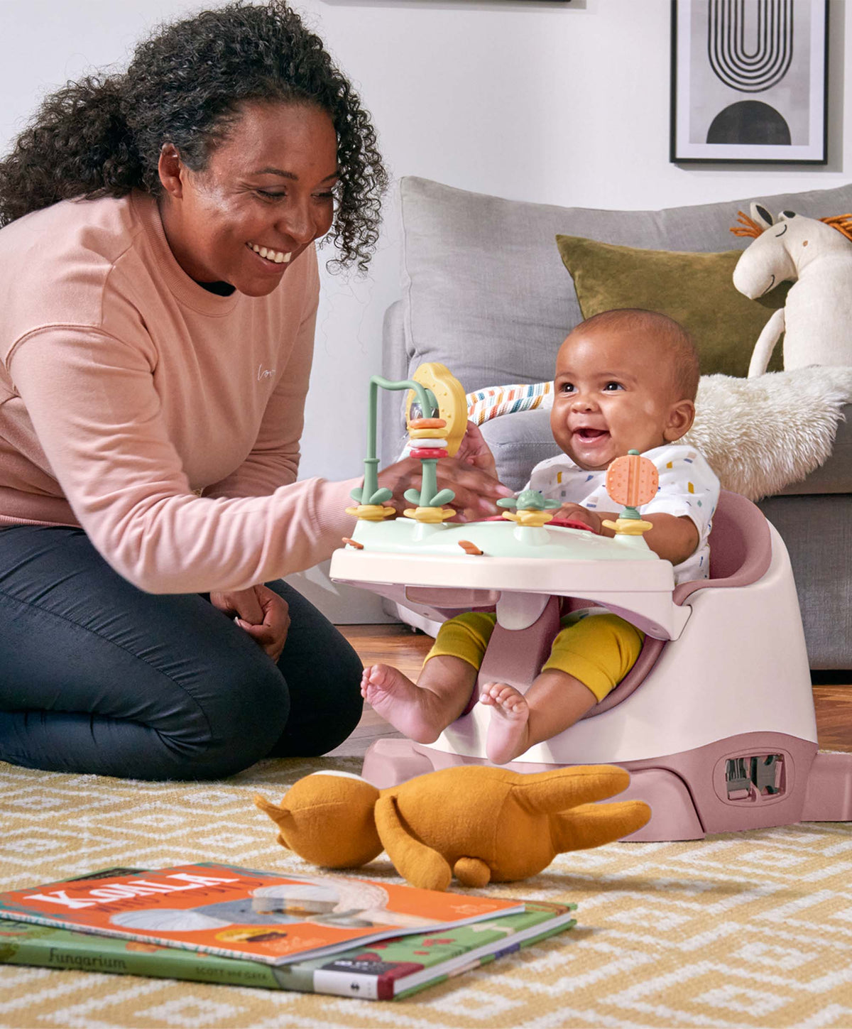
[[[752,200],[773,213],[823,217],[852,210],[852,184],[662,211],[606,211],[503,200],[404,177],[409,372],[423,361],[440,361],[466,392],[549,379],[557,348],[582,320],[558,234],[653,250],[742,248],[750,241],[733,237],[730,227]]]

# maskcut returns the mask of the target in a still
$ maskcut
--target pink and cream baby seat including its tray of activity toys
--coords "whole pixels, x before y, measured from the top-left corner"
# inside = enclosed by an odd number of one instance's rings
[[[406,424],[423,465],[416,506],[392,519],[376,468],[377,388],[409,389]],[[690,840],[708,832],[852,819],[852,754],[819,753],[802,618],[786,547],[760,510],[722,491],[710,535],[710,578],[675,586],[672,566],[644,542],[638,506],[650,466],[638,456],[610,465],[607,489],[625,504],[614,538],[549,524],[540,494],[501,520],[448,522],[452,491],[436,464],[464,433],[464,392],[440,364],[412,380],[370,380],[367,458],[358,516],[331,577],[370,590],[427,618],[495,609],[497,625],[477,688],[508,682],[524,691],[538,673],[566,605],[601,604],[646,633],[636,665],[589,714],[531,747],[508,768],[618,765],[625,799],[652,816],[629,839]],[[631,463],[632,462],[632,463]],[[655,477],[653,489],[655,490]],[[637,499],[638,498],[638,499]],[[649,499],[649,498],[648,498]],[[647,523],[644,523],[647,526]],[[624,531],[627,529],[627,531]],[[474,698],[477,690],[474,690]],[[489,764],[490,714],[473,704],[432,744],[385,739],[364,759],[379,787],[461,764]]]

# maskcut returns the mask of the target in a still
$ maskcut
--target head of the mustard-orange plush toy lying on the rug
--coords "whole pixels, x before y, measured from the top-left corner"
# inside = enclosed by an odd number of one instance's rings
[[[299,779],[280,807],[254,803],[281,829],[279,843],[326,868],[356,868],[382,852],[374,807],[379,790],[365,779],[315,773]]]

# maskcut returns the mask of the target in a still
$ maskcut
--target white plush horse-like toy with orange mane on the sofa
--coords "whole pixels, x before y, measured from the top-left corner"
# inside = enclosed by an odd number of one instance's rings
[[[736,236],[752,236],[734,269],[734,285],[751,299],[793,281],[785,306],[764,326],[751,354],[749,378],[767,370],[784,333],[784,368],[852,365],[852,214],[806,218],[759,204],[738,212]]]

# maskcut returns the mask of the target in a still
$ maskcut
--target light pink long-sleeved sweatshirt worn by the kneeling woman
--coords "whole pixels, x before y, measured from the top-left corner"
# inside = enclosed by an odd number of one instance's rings
[[[79,525],[151,593],[328,557],[358,480],[296,483],[318,293],[313,248],[269,296],[209,292],[141,192],[0,230],[0,526]]]

